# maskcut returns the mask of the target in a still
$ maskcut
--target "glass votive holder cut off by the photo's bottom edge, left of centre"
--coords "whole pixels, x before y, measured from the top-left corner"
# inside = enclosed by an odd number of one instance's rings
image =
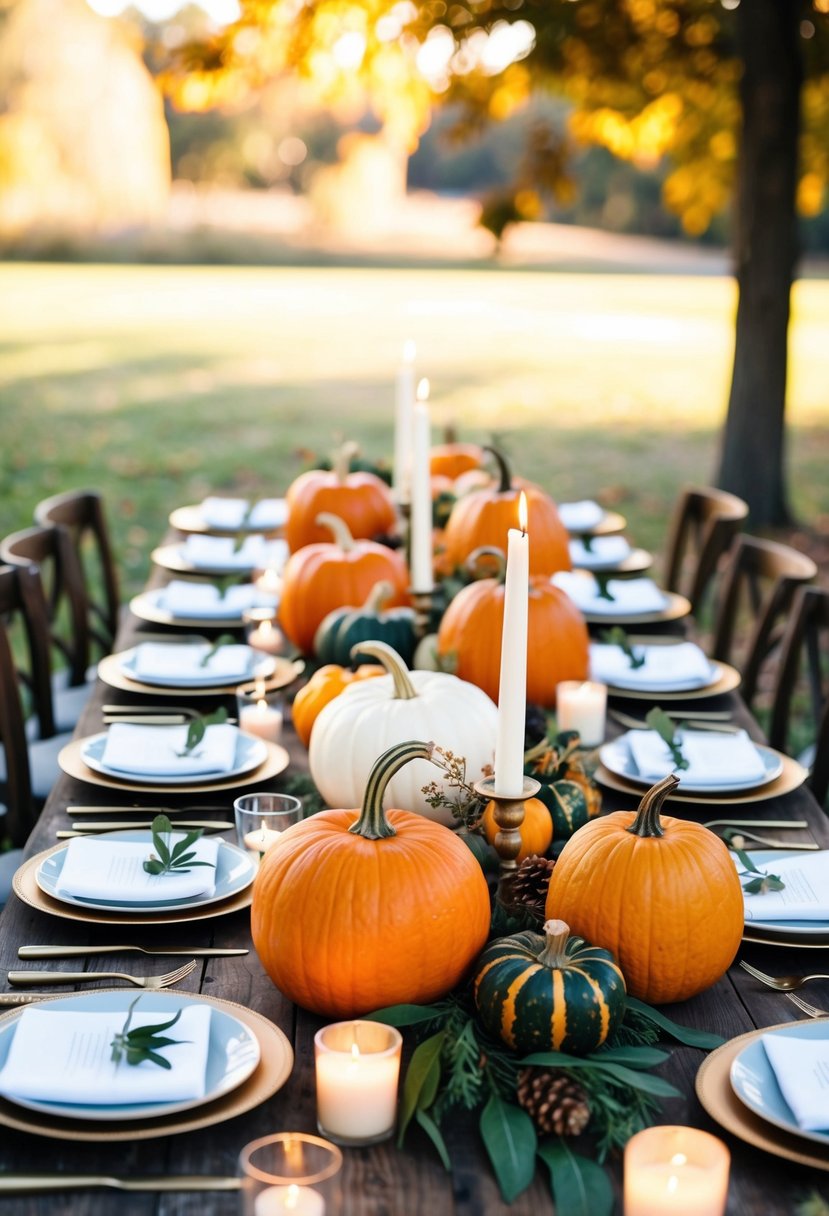
[[[318,1136],[277,1132],[239,1154],[243,1216],[338,1216],[343,1154]]]

